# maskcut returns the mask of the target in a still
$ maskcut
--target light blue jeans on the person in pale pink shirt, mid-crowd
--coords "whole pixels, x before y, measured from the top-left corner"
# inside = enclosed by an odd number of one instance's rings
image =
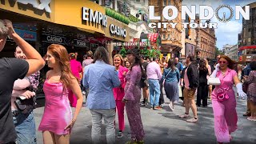
[[[158,79],[149,79],[150,85],[150,103],[151,106],[158,106],[159,105],[159,98],[160,98],[160,84]],[[154,98],[155,96],[155,98]]]

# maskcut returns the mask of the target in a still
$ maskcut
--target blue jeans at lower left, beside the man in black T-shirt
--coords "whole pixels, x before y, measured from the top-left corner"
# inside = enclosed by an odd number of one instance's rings
[[[35,131],[34,114],[31,112],[29,115],[18,114],[13,116],[15,130],[18,138],[16,143],[18,144],[36,144],[37,135]]]

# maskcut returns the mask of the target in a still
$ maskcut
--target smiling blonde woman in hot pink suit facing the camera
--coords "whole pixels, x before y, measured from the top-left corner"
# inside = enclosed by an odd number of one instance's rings
[[[118,132],[118,138],[122,138],[122,132],[125,130],[125,116],[124,116],[124,111],[125,111],[125,103],[122,102],[122,98],[125,95],[125,78],[126,78],[126,73],[128,72],[128,69],[126,67],[123,67],[123,59],[122,55],[120,54],[115,54],[114,55],[114,66],[115,70],[118,71],[118,78],[121,82],[121,85],[119,87],[116,87],[113,89],[114,93],[114,99],[115,99],[115,104],[118,110],[118,123],[119,123],[119,132]]]

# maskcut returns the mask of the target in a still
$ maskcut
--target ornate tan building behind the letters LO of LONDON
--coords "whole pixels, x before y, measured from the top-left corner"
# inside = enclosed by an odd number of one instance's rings
[[[165,6],[175,6],[178,9],[178,17],[171,22],[177,23],[175,29],[173,29],[170,24],[164,29],[154,29],[154,32],[159,32],[162,38],[161,51],[164,56],[170,55],[171,58],[181,57],[182,50],[182,0],[150,0],[150,6],[154,6],[154,15],[161,16],[160,21],[151,22],[170,22],[163,18],[162,9]],[[170,10],[171,14],[171,10]]]

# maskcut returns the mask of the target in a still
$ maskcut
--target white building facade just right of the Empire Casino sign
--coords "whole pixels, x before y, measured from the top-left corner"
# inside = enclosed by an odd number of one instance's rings
[[[111,42],[112,56],[118,54],[122,48],[130,49],[142,45],[142,34],[150,34],[148,26],[148,0],[99,0],[94,1],[114,13],[122,14],[129,21],[130,30],[128,42]],[[145,42],[144,42],[145,43]],[[111,59],[111,58],[110,58]]]

